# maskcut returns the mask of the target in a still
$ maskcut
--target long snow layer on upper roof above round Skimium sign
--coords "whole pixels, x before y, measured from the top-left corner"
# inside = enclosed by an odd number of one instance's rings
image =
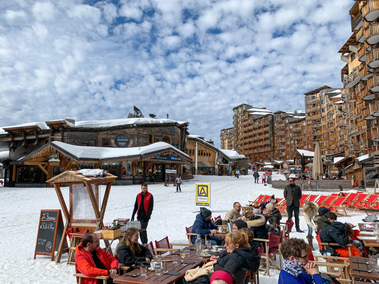
[[[185,121],[177,121],[172,119],[153,119],[147,117],[137,117],[129,119],[111,119],[111,120],[92,120],[75,122],[74,128],[107,128],[133,124],[157,124],[157,123],[188,123]]]

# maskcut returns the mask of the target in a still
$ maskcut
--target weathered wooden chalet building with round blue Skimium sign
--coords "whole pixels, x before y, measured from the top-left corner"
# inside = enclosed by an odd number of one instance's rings
[[[97,168],[108,170],[118,176],[116,184],[136,182],[143,175],[153,175],[156,181],[163,181],[165,169],[191,161],[187,156],[188,122],[153,117],[133,117],[128,119],[82,121],[74,119],[52,120],[47,122],[25,123],[0,128],[0,151],[9,150],[8,159],[3,162],[5,186],[8,187],[44,187],[45,181],[68,169]],[[67,155],[67,161],[54,166],[49,163],[49,155],[44,161],[39,149],[52,142],[63,142],[89,151],[91,147],[130,148],[144,147],[156,142],[166,142],[179,150],[179,156],[167,151],[158,153],[155,159],[139,159],[133,172],[133,163],[128,159],[106,159],[88,162]],[[64,147],[61,147],[64,148]],[[170,150],[171,151],[171,150]],[[167,152],[167,153],[166,153]],[[30,156],[31,153],[34,153]],[[166,154],[164,154],[166,153]],[[44,153],[45,154],[45,153]],[[36,156],[37,155],[37,156]],[[27,158],[26,158],[27,157]],[[174,158],[172,158],[174,157]],[[60,157],[61,158],[61,157]],[[59,158],[59,160],[61,160]],[[63,159],[65,160],[65,159]],[[181,167],[178,167],[181,172]],[[149,179],[147,179],[149,180]]]

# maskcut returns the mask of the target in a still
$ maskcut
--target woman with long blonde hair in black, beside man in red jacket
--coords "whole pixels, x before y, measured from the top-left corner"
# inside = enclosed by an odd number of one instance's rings
[[[151,261],[153,256],[149,249],[138,243],[138,229],[128,228],[125,236],[116,247],[116,257],[120,263],[127,266],[139,261]]]

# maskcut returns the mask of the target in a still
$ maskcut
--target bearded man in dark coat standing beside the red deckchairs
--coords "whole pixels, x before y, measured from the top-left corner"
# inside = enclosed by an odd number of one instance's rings
[[[288,178],[288,186],[284,188],[284,198],[287,201],[288,221],[292,219],[292,213],[295,215],[296,232],[304,233],[299,226],[300,198],[302,192],[299,186],[295,184],[295,178]]]

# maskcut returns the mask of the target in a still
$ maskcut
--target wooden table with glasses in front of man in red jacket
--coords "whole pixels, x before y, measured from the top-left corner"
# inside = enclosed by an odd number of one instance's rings
[[[184,277],[186,274],[186,271],[189,269],[193,269],[198,267],[202,261],[201,259],[191,260],[195,262],[194,264],[187,264],[186,266],[182,266],[181,263],[172,263],[172,261],[167,262],[167,269],[162,269],[161,275],[155,275],[155,272],[153,270],[147,270],[146,276],[128,276],[128,275],[121,275],[117,277],[116,279],[113,279],[113,283],[119,283],[119,284],[172,284],[175,281],[178,281],[180,278]],[[171,270],[180,272],[180,275],[169,275],[164,274],[163,270]],[[141,273],[141,270],[135,269],[132,270],[131,273]]]

